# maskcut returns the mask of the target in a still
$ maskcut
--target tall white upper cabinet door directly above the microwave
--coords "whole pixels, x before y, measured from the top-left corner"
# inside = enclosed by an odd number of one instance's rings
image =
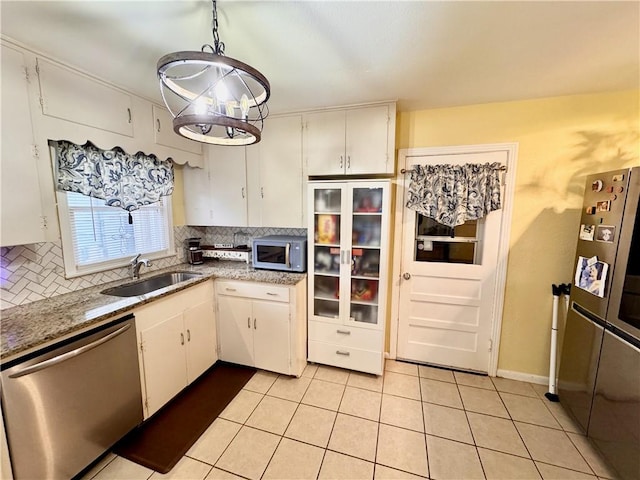
[[[247,187],[249,226],[305,226],[302,115],[266,120],[260,143],[247,147]]]

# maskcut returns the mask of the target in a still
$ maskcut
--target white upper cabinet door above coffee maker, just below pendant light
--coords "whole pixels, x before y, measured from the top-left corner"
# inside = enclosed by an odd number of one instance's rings
[[[217,226],[247,226],[245,149],[208,146],[211,209]]]

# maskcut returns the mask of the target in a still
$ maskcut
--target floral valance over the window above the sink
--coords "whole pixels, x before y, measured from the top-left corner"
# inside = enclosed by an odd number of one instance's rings
[[[56,145],[57,188],[100,198],[129,212],[173,193],[173,163],[155,155],[101,150],[87,142]]]

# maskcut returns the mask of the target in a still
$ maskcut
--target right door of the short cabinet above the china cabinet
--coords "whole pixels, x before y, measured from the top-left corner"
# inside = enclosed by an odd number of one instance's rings
[[[347,110],[346,115],[346,173],[393,173],[394,159],[388,149],[389,107],[356,108]]]

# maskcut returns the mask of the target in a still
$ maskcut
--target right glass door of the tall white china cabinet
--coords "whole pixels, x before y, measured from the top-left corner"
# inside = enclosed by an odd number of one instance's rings
[[[353,187],[348,318],[356,323],[378,323],[382,187]]]

